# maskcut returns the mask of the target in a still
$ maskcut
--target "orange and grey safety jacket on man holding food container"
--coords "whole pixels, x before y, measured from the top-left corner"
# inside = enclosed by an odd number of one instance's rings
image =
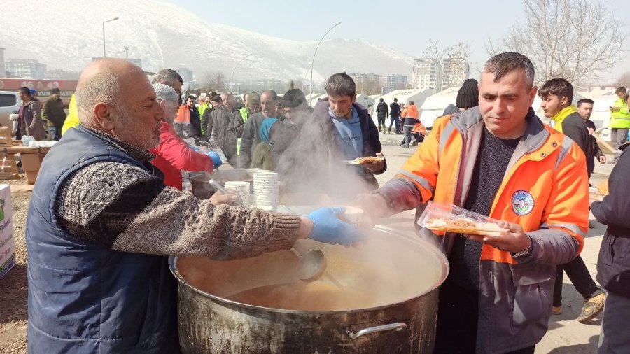
[[[542,339],[551,315],[556,265],[579,254],[588,230],[584,153],[543,125],[531,108],[526,121],[489,216],[521,225],[532,239],[531,253],[512,257],[488,244],[482,247],[477,353],[516,351]],[[421,208],[428,200],[463,206],[482,129],[479,108],[438,118],[396,178],[375,192],[395,211]],[[421,233],[435,237],[427,229]],[[440,238],[447,255],[456,236]]]

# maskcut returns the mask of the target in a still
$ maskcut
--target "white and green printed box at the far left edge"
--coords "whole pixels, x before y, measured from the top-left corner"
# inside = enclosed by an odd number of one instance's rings
[[[0,278],[15,265],[11,186],[0,185]]]

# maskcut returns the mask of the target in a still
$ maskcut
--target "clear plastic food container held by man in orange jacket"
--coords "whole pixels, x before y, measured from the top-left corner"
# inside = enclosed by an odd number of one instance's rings
[[[500,236],[508,232],[498,225],[498,220],[489,218],[452,204],[429,201],[420,215],[418,225],[435,232],[455,232],[481,236]]]

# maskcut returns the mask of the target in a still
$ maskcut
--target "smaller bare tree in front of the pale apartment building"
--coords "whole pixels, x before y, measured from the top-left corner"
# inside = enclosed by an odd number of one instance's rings
[[[429,39],[429,43],[424,52],[426,57],[435,60],[437,64],[435,90],[442,91],[461,85],[468,78],[470,43],[458,42],[446,48],[440,48],[439,41]]]

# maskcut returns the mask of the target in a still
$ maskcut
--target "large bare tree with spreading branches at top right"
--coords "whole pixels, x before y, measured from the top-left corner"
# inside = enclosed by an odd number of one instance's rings
[[[527,55],[536,81],[566,78],[571,83],[598,78],[621,53],[626,34],[609,8],[598,0],[524,0],[525,22],[514,24],[489,55],[514,51]]]

